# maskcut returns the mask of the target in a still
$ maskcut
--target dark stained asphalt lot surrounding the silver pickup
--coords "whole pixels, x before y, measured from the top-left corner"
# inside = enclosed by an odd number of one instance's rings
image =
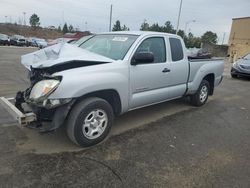
[[[0,96],[27,86],[19,58],[33,50],[0,47]],[[226,64],[205,106],[177,100],[130,112],[88,149],[64,128],[19,129],[0,107],[0,187],[250,187],[249,98],[250,80],[231,79]]]

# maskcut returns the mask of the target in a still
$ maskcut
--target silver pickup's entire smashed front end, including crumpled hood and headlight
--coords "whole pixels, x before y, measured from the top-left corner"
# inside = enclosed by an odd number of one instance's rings
[[[58,73],[112,61],[112,59],[67,43],[23,55],[21,63],[29,70],[30,87],[16,94],[15,106],[8,108],[11,104],[4,100],[5,106],[8,109],[14,109],[11,110],[14,117],[26,117],[27,113],[36,116],[36,118],[28,118],[24,124],[34,119],[36,122],[32,125],[35,127],[40,127],[43,131],[55,130],[64,123],[76,100],[73,96],[72,98],[64,97],[64,93],[60,94],[60,98],[50,98],[50,95],[63,82],[63,74]]]

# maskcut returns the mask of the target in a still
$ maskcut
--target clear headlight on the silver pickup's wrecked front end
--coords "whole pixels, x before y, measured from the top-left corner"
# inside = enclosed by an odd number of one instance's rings
[[[57,88],[59,83],[59,80],[42,80],[36,83],[30,92],[30,99],[37,100],[41,97],[48,96]]]

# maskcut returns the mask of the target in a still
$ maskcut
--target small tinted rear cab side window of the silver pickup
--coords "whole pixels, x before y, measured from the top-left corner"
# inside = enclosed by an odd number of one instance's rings
[[[183,59],[183,47],[180,39],[170,38],[170,47],[171,47],[171,55],[172,61],[180,61]]]

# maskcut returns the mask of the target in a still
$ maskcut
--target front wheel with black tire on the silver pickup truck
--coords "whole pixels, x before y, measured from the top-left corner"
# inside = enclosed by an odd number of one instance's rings
[[[97,97],[84,99],[69,114],[68,137],[82,147],[98,144],[110,132],[113,120],[113,109],[107,101]]]

